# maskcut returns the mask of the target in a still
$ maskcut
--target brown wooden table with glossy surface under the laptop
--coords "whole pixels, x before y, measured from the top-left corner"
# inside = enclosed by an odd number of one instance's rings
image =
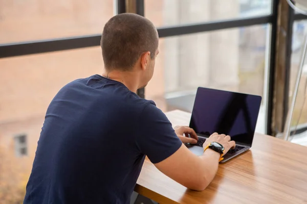
[[[173,125],[188,125],[191,116],[178,110],[166,115]],[[202,192],[171,180],[148,160],[135,191],[159,203],[307,203],[306,155],[305,146],[255,134],[252,148],[220,164]]]

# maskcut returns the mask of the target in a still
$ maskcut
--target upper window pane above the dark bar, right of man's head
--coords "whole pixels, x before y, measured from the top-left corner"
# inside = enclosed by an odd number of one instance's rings
[[[145,0],[145,17],[157,27],[269,15],[272,0]]]

